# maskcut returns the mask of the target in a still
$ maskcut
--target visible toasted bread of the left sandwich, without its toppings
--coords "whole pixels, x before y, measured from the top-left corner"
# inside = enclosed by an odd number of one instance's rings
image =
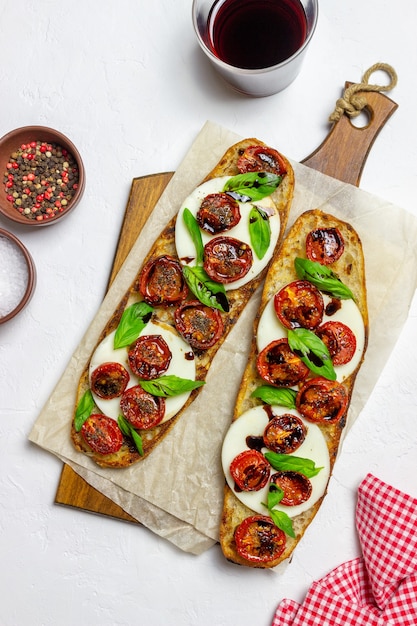
[[[250,138],[240,141],[233,146],[231,146],[226,153],[223,155],[219,163],[214,167],[214,169],[202,180],[201,182],[206,182],[212,178],[221,177],[221,176],[235,176],[239,174],[239,170],[237,167],[237,161],[239,157],[245,151],[245,148],[253,145],[265,146],[265,144],[258,139]],[[282,156],[282,155],[281,155]],[[288,215],[291,207],[293,191],[294,191],[294,172],[291,167],[290,162],[282,157],[286,168],[287,174],[284,176],[281,184],[278,188],[271,194],[270,198],[274,203],[275,208],[279,212],[280,215],[280,233],[278,237],[277,247],[280,245],[286,225],[288,220]],[[184,198],[178,198],[178,207],[180,207]],[[152,259],[155,259],[161,255],[169,255],[174,258],[177,257],[176,247],[175,247],[175,223],[176,217],[172,218],[172,220],[167,224],[164,230],[161,232],[157,240],[152,245],[142,267]],[[133,281],[132,285],[122,298],[119,305],[116,307],[113,315],[109,319],[105,328],[103,329],[97,345],[112,331],[114,331],[124,309],[132,304],[135,301],[139,301],[142,299],[138,292],[137,284],[138,278],[141,272],[142,267],[138,268],[138,274]],[[228,291],[228,301],[230,310],[228,313],[222,313],[223,324],[224,324],[224,332],[220,340],[216,343],[215,346],[209,348],[205,351],[194,351],[195,363],[196,363],[196,379],[204,381],[209,370],[209,367],[213,361],[213,358],[229,333],[230,329],[236,323],[239,315],[242,313],[245,305],[249,301],[250,297],[257,289],[257,287],[261,284],[263,279],[265,278],[267,268],[265,268],[256,278],[251,280],[246,285],[232,289]],[[157,321],[164,322],[170,326],[174,326],[174,311],[175,306],[171,307],[161,307],[156,306],[154,308],[153,319]],[[94,351],[93,351],[94,352]],[[91,355],[92,356],[92,355]],[[90,357],[91,359],[91,357]],[[90,362],[90,361],[89,361]],[[89,389],[89,362],[86,364],[78,384],[77,394],[76,394],[76,402],[74,409],[74,417],[77,410],[77,406],[83,397],[84,393]],[[177,374],[181,376],[181,373]],[[129,437],[124,437],[123,444],[120,450],[116,453],[101,455],[94,452],[90,446],[85,442],[80,432],[77,432],[74,426],[74,419],[72,420],[71,426],[71,438],[75,448],[88,455],[93,461],[95,461],[98,465],[102,467],[111,467],[111,468],[123,468],[128,467],[133,463],[141,461],[144,459],[152,450],[157,446],[157,444],[161,441],[161,439],[172,429],[176,421],[180,418],[183,411],[189,406],[192,400],[198,393],[198,389],[194,390],[190,397],[188,398],[184,407],[169,421],[161,423],[160,425],[150,428],[148,430],[141,430],[140,436],[142,437],[143,443],[143,455],[140,455],[137,448],[135,447],[133,441]],[[99,411],[97,411],[99,412]]]

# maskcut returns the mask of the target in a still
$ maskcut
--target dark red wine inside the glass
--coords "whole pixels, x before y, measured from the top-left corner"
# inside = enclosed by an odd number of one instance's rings
[[[208,27],[219,59],[259,69],[297,52],[306,39],[307,20],[300,0],[218,0]]]

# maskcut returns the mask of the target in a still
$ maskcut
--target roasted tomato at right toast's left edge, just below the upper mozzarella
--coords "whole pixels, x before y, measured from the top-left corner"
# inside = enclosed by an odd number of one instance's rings
[[[275,387],[293,387],[310,372],[291,350],[287,339],[277,339],[268,344],[259,353],[256,366],[261,378]]]

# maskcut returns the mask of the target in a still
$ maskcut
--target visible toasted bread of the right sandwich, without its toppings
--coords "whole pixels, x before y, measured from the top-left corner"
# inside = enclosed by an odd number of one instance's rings
[[[336,219],[335,217],[325,214],[319,210],[312,210],[302,214],[297,219],[292,228],[289,230],[281,249],[277,250],[277,253],[270,264],[265,279],[260,309],[254,322],[254,338],[252,348],[237,395],[232,420],[233,422],[238,420],[239,417],[241,417],[242,414],[244,414],[248,409],[262,405],[262,401],[260,399],[251,397],[252,392],[258,386],[265,384],[262,378],[260,378],[256,367],[256,358],[258,354],[256,347],[256,333],[261,314],[270,299],[282,287],[298,278],[294,269],[294,259],[296,257],[305,258],[305,241],[307,234],[316,228],[329,227],[338,228],[345,242],[344,254],[339,260],[334,262],[330,268],[353,292],[355,302],[360,310],[364,322],[365,345],[362,358],[353,373],[342,383],[348,393],[350,403],[355,379],[360,369],[360,365],[363,362],[368,341],[368,311],[365,284],[365,264],[362,245],[357,233],[348,223]],[[344,416],[336,424],[318,424],[324,435],[328,448],[330,474],[336,460],[342,431],[346,424],[347,411],[348,409],[346,409]],[[285,549],[278,558],[267,563],[253,563],[246,558],[242,558],[242,556],[237,552],[234,537],[237,526],[244,519],[253,515],[254,512],[236,497],[229,484],[226,482],[224,488],[223,514],[220,523],[220,544],[226,559],[233,563],[247,567],[271,568],[288,559],[301,540],[308,525],[312,522],[324,498],[323,495],[308,510],[293,518],[295,538],[291,538],[286,535]],[[267,513],[265,512],[265,515],[266,514]]]

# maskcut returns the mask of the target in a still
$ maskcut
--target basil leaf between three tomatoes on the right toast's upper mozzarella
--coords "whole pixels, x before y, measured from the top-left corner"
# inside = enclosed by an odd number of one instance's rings
[[[311,330],[295,328],[288,331],[288,345],[318,376],[336,380],[332,359],[325,343]]]

